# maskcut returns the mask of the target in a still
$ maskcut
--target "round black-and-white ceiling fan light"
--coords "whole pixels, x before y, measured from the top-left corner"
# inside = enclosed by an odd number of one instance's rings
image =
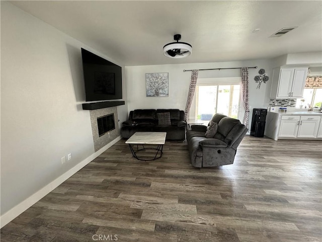
[[[181,34],[175,34],[173,36],[177,42],[172,42],[163,46],[163,52],[170,58],[183,58],[191,55],[192,46],[185,42],[179,42]]]

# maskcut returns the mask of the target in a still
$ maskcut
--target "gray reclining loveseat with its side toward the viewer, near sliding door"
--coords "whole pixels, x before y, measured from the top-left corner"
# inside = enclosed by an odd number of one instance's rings
[[[187,130],[190,160],[195,167],[232,164],[236,150],[248,129],[238,119],[215,114],[211,121],[218,124],[213,138],[206,138],[207,126],[192,125]]]

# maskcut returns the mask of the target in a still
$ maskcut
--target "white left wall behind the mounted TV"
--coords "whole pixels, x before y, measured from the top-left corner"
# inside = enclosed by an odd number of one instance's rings
[[[2,215],[94,154],[81,47],[108,59],[1,1]],[[127,115],[119,106],[120,123]]]

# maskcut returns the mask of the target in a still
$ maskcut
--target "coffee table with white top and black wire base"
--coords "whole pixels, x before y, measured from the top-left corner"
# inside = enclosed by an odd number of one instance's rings
[[[166,143],[166,136],[167,132],[136,132],[134,135],[132,135],[125,144],[128,144],[130,147],[130,150],[132,152],[133,157],[135,157],[138,160],[155,160],[162,156],[163,154],[163,145]],[[136,145],[136,150],[134,150],[133,146]],[[139,149],[138,146],[141,145],[143,148]],[[144,145],[156,145],[157,147],[150,147],[146,148]],[[143,153],[143,151],[146,150],[156,150],[156,154],[153,153],[152,157],[149,157],[148,155],[151,155],[150,153],[146,152],[146,157],[139,158],[137,156],[137,153]]]

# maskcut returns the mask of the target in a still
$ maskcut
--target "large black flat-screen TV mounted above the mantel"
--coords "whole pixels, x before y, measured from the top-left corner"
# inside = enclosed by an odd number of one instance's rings
[[[86,101],[122,99],[122,68],[82,48]]]

